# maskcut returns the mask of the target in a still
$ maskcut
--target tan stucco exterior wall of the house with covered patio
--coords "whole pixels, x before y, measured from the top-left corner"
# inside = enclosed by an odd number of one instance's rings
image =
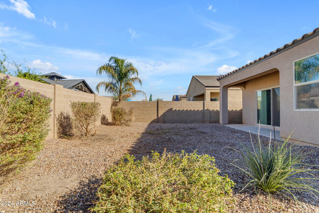
[[[231,85],[242,83],[240,86],[245,87],[246,81],[258,75],[265,75],[269,72],[279,70],[280,77],[280,136],[288,137],[292,133],[293,140],[300,140],[309,144],[319,145],[318,127],[319,127],[319,111],[308,110],[294,110],[294,97],[293,97],[293,61],[310,56],[312,54],[319,53],[319,36],[314,37],[308,41],[305,41],[279,55],[269,57],[267,60],[251,65],[246,69],[243,69],[236,74],[230,75],[219,81],[221,92],[220,93],[220,122],[227,123],[227,113],[224,113],[224,109],[227,103],[223,100],[224,88]],[[266,85],[265,85],[266,87]],[[245,91],[253,93],[256,87],[248,87]],[[247,93],[247,94],[248,94]],[[254,101],[252,101],[254,100]],[[251,108],[255,107],[255,95],[253,98],[247,99],[248,103],[243,105],[243,118],[245,122],[255,121],[255,113],[247,115],[248,109],[245,109],[247,105]],[[254,110],[255,111],[255,110]]]

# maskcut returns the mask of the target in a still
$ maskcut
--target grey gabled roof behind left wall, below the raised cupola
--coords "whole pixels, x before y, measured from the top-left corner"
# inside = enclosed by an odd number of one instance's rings
[[[53,81],[49,78],[41,78],[42,81],[48,82],[49,84],[62,85],[66,89],[76,89],[82,91],[84,89],[87,93],[94,93],[90,86],[86,83],[84,79],[70,79],[70,80],[56,80]],[[80,89],[82,87],[82,89]]]

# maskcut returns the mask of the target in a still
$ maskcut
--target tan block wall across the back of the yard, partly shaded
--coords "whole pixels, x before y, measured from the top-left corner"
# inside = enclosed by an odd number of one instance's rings
[[[218,123],[219,101],[121,101],[119,107],[133,107],[135,122]],[[230,101],[229,123],[242,123],[242,104]]]

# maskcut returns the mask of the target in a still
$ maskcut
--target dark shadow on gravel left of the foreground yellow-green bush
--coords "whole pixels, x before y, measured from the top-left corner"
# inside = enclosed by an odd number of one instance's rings
[[[90,213],[94,206],[96,193],[102,184],[102,178],[92,177],[88,181],[80,181],[79,187],[60,197],[58,208],[54,213]]]

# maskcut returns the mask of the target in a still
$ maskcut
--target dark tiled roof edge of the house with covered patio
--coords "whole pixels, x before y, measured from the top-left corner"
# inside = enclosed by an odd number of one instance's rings
[[[300,38],[294,39],[292,42],[290,42],[290,43],[288,43],[288,44],[285,44],[283,47],[280,47],[280,48],[278,48],[278,49],[276,49],[276,50],[274,50],[274,51],[272,51],[272,52],[266,54],[265,56],[260,57],[259,59],[256,59],[255,61],[252,61],[252,62],[250,62],[250,63],[247,63],[246,65],[244,65],[244,66],[242,66],[242,67],[239,67],[238,69],[235,69],[235,70],[233,70],[233,71],[231,71],[231,72],[229,72],[229,73],[227,73],[227,74],[225,74],[225,75],[219,76],[219,77],[217,78],[217,81],[219,81],[220,79],[225,78],[226,76],[229,76],[229,75],[231,75],[231,74],[233,74],[233,73],[236,73],[236,72],[238,72],[239,70],[245,69],[245,68],[247,68],[248,66],[256,65],[257,63],[262,62],[262,61],[265,61],[265,60],[267,60],[268,58],[271,58],[271,57],[273,57],[273,56],[277,56],[277,55],[279,55],[280,53],[283,53],[283,52],[285,52],[286,50],[289,50],[289,49],[291,49],[292,47],[295,47],[295,46],[297,46],[297,45],[299,45],[299,44],[302,44],[303,42],[308,41],[308,40],[310,40],[310,39],[312,39],[312,38],[314,38],[314,37],[316,37],[316,36],[318,36],[318,35],[319,35],[319,28],[316,28],[316,29],[313,30],[312,32],[309,32],[309,33],[307,33],[307,34],[304,34],[304,35],[301,36]]]

